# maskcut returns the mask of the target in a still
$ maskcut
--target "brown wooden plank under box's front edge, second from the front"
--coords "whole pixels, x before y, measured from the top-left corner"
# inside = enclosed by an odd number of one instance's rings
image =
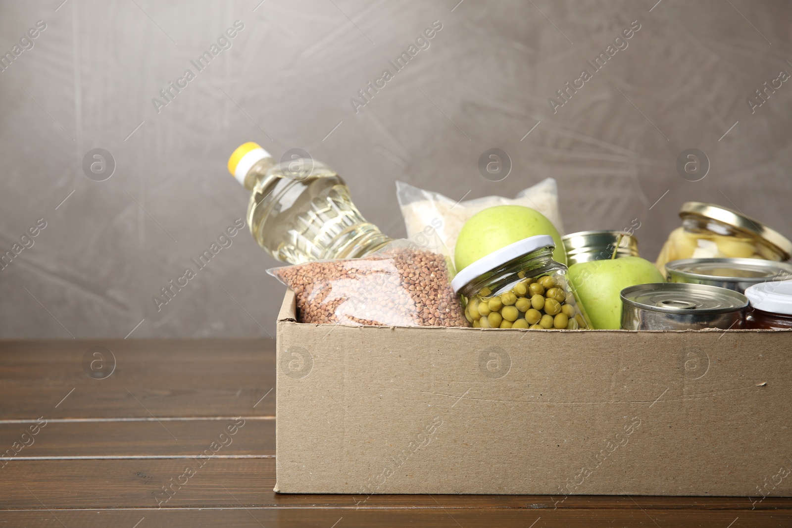
[[[204,462],[201,466],[200,462]],[[185,469],[193,469],[190,475]],[[182,477],[185,475],[185,477]],[[613,508],[708,511],[786,511],[792,500],[753,504],[745,497],[285,495],[275,485],[273,458],[36,460],[0,469],[7,509],[157,507],[319,507],[344,509],[509,508],[536,510]],[[169,486],[169,488],[166,488]],[[755,499],[756,500],[756,499]],[[638,504],[638,506],[636,506]],[[792,519],[792,517],[790,517]]]

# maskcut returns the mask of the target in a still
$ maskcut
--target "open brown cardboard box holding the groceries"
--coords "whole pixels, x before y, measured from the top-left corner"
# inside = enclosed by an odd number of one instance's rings
[[[278,319],[276,492],[792,496],[792,331]]]

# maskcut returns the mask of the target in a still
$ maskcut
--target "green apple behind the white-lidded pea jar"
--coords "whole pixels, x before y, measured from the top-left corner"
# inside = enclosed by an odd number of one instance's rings
[[[553,237],[553,258],[566,264],[566,251],[558,230],[539,211],[521,205],[497,205],[478,211],[459,231],[454,249],[456,269],[460,271],[497,249],[538,234]]]

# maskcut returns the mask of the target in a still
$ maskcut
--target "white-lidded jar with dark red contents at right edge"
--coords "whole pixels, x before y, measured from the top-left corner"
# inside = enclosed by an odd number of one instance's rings
[[[792,329],[792,280],[773,280],[745,290],[751,303],[748,329]]]

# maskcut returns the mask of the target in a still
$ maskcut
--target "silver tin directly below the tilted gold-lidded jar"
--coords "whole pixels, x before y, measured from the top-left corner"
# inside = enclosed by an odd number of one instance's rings
[[[665,264],[669,283],[709,284],[743,293],[754,284],[792,278],[792,265],[761,259],[683,259]]]

